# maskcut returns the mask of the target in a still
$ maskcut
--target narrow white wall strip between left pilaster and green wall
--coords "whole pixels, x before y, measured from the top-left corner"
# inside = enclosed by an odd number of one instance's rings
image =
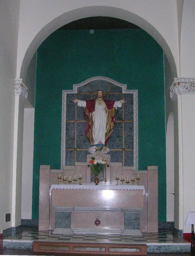
[[[34,148],[34,109],[24,109],[22,219],[32,219],[32,173]]]

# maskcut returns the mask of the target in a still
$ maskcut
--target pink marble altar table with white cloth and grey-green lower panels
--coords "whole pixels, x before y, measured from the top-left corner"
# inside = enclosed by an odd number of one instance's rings
[[[144,186],[52,185],[50,192],[50,204],[54,210],[50,226],[54,233],[139,230]]]

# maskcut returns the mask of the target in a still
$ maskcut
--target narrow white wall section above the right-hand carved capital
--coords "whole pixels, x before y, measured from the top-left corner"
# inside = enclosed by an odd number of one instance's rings
[[[195,77],[195,1],[184,0],[181,26],[181,77]]]

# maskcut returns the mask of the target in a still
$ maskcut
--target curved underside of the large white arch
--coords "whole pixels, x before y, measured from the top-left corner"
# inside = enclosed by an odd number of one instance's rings
[[[162,47],[171,66],[172,74],[174,77],[177,77],[177,68],[171,49],[166,43],[165,38],[163,38],[160,32],[158,32],[158,30],[152,24],[143,19],[141,16],[138,16],[135,13],[129,12],[124,9],[109,6],[89,6],[63,13],[63,15],[60,15],[57,18],[53,19],[48,24],[46,24],[46,26],[40,29],[39,32],[37,32],[37,35],[33,38],[31,44],[29,44],[26,53],[24,53],[24,57],[21,62],[21,68],[18,67],[19,72],[17,72],[17,74],[20,74],[20,78],[26,80],[27,69],[29,67],[29,63],[32,57],[34,56],[34,53],[36,52],[40,44],[55,30],[72,21],[95,16],[119,18],[141,27],[141,29],[149,33],[149,35],[151,35],[155,39],[155,41],[157,41],[158,44]]]

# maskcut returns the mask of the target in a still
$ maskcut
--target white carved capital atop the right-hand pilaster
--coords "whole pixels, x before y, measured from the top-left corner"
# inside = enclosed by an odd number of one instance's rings
[[[170,87],[170,97],[175,100],[177,95],[195,94],[195,78],[192,77],[177,77],[174,78]]]

